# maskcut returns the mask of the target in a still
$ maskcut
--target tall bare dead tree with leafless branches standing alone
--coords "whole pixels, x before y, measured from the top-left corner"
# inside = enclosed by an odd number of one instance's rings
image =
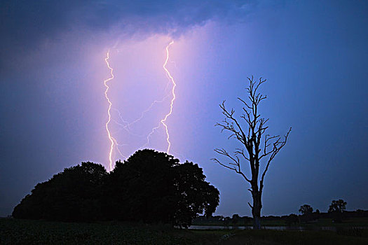
[[[261,118],[258,111],[259,103],[266,99],[266,96],[257,91],[259,86],[266,82],[266,79],[259,78],[257,81],[253,80],[252,76],[252,78],[248,78],[248,80],[250,85],[247,87],[247,94],[250,102],[245,102],[244,99],[238,98],[243,104],[241,116],[237,118],[234,109],[226,109],[224,101],[219,106],[222,109],[222,114],[224,114],[225,119],[222,123],[216,124],[216,126],[222,127],[222,132],[229,131],[231,133],[229,139],[237,139],[242,147],[236,148],[233,153],[229,153],[224,148],[216,148],[214,151],[220,155],[224,155],[229,162],[223,162],[217,158],[213,158],[212,160],[240,174],[245,181],[250,183],[250,188],[248,190],[252,193],[253,204],[249,202],[248,204],[252,209],[253,228],[260,229],[262,208],[261,196],[264,188],[264,176],[266,176],[268,167],[275,158],[275,155],[285,146],[287,137],[292,128],[289,128],[289,131],[284,137],[266,134],[268,129],[266,123],[269,118]],[[259,164],[261,160],[265,162],[265,167],[259,178]],[[247,176],[241,168],[244,162],[250,164],[250,176]]]

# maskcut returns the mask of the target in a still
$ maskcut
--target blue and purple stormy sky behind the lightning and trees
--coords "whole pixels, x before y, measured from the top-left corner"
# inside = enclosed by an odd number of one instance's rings
[[[252,75],[268,80],[269,133],[292,127],[266,176],[262,214],[301,204],[327,211],[335,199],[368,209],[367,2],[1,1],[0,9],[0,216],[65,167],[108,167],[108,50],[111,133],[125,156],[146,144],[170,109],[171,40],[170,153],[204,169],[221,193],[216,214],[251,215],[247,183],[210,158],[237,146],[214,127],[218,105],[239,109]],[[161,99],[129,131],[118,125]],[[162,126],[148,147],[166,150]],[[113,157],[123,159],[116,149]]]

